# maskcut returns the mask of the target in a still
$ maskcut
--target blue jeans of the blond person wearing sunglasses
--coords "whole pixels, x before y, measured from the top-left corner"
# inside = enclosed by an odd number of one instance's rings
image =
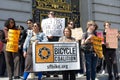
[[[97,55],[94,52],[85,52],[86,60],[86,78],[87,80],[95,80]]]

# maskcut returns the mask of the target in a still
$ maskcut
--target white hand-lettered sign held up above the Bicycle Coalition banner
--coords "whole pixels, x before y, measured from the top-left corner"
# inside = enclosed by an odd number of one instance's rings
[[[43,19],[41,27],[47,36],[62,36],[65,28],[65,18]]]

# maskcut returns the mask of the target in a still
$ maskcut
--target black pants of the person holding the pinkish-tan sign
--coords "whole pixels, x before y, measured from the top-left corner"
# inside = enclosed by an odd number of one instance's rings
[[[115,49],[106,49],[105,60],[107,64],[107,71],[109,77],[112,78],[112,69],[114,73],[114,77],[118,77],[118,67],[117,67],[117,58],[116,58],[116,50]]]

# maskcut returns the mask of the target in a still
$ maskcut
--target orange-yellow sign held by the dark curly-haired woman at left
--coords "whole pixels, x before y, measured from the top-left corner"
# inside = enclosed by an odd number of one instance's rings
[[[20,30],[10,29],[8,31],[9,41],[7,41],[6,51],[18,52],[19,36],[20,36]]]

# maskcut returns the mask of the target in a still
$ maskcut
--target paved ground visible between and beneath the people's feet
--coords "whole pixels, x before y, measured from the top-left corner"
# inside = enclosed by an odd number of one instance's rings
[[[98,74],[96,80],[107,80],[107,77],[108,77],[107,74],[104,74],[104,75]],[[8,77],[0,78],[0,80],[8,80]],[[14,80],[22,80],[22,79],[14,79]],[[37,77],[34,78],[34,79],[29,78],[28,80],[37,80]],[[59,77],[56,77],[56,78],[54,78],[54,77],[51,77],[51,78],[43,77],[42,80],[62,80],[62,76],[60,75]],[[76,77],[76,80],[86,80],[86,76]]]

